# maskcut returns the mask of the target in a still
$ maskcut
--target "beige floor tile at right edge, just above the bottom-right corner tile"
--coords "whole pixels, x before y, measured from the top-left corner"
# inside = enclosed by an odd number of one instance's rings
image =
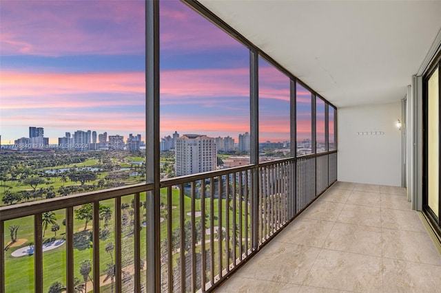
[[[441,257],[427,232],[382,229],[383,257],[441,265]],[[440,275],[441,276],[441,275]]]

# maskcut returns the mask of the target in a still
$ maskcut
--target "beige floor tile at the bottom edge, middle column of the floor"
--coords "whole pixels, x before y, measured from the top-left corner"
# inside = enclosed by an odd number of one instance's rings
[[[381,257],[322,249],[303,285],[353,292],[380,292]]]

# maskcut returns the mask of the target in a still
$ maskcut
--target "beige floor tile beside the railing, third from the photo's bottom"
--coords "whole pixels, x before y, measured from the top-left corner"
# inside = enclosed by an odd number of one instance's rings
[[[331,232],[333,222],[299,217],[274,239],[274,241],[321,248]]]

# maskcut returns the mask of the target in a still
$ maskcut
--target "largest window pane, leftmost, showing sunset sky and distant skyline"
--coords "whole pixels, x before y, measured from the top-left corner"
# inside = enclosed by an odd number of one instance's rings
[[[1,27],[2,171],[20,201],[145,181],[144,2],[2,1]]]

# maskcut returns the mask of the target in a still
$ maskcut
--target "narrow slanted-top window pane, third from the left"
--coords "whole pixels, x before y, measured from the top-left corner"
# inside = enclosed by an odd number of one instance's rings
[[[263,58],[258,63],[260,161],[289,157],[290,80]]]

